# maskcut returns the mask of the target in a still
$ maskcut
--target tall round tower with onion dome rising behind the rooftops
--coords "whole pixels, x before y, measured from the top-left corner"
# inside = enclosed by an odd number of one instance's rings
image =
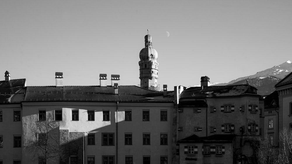
[[[149,31],[149,30],[147,30]],[[147,34],[145,36],[145,48],[140,51],[140,87],[159,91],[158,79],[158,62],[157,51],[152,48],[152,37]]]

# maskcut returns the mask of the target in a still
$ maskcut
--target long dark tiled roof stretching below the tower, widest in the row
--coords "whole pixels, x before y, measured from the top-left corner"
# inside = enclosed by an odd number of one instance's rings
[[[25,101],[144,101],[173,102],[173,91],[164,97],[163,92],[151,91],[134,85],[114,87],[100,86],[43,86],[27,87]]]

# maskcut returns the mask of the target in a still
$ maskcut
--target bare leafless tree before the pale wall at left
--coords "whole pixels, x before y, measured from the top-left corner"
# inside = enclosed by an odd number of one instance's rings
[[[63,156],[60,148],[59,125],[53,116],[48,114],[41,121],[35,122],[31,129],[32,136],[27,140],[25,148],[32,154],[32,161],[46,164],[48,161],[57,163]]]

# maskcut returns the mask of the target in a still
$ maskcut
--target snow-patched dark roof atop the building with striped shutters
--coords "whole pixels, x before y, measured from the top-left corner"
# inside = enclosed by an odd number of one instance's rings
[[[257,89],[247,84],[227,85],[227,86],[209,86],[209,87],[190,87],[183,91],[180,98],[202,98],[202,97],[224,97],[241,96],[257,94]]]

